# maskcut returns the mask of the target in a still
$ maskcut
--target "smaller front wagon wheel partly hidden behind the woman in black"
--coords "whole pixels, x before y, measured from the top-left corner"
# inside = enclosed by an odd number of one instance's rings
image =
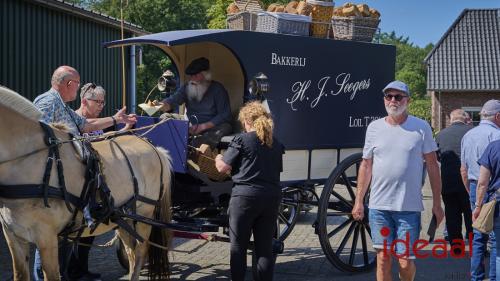
[[[284,187],[281,193],[283,199],[281,200],[278,212],[277,231],[278,239],[285,241],[290,232],[292,232],[299,217],[301,205],[298,203],[298,200],[302,195],[300,189],[296,187]]]

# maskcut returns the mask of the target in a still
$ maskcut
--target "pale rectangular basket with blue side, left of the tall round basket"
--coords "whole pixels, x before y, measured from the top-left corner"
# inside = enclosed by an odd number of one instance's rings
[[[256,31],[309,36],[311,18],[286,13],[259,13]]]

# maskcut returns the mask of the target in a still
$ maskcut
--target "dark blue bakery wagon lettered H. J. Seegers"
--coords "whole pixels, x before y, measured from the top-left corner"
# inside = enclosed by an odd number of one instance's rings
[[[358,222],[350,212],[366,126],[385,115],[381,90],[394,78],[394,46],[234,30],[171,31],[105,46],[135,44],[163,50],[180,83],[190,61],[207,57],[234,114],[246,101],[263,100],[286,147],[279,240],[302,207],[317,206],[313,227],[328,260],[350,272],[374,266],[367,216]],[[140,117],[138,126],[158,122]],[[232,182],[213,181],[188,164],[188,122],[164,122],[146,136],[173,159],[175,221],[226,228]]]

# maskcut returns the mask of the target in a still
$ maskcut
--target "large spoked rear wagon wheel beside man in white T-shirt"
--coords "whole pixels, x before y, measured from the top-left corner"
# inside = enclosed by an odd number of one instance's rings
[[[363,221],[355,221],[351,216],[361,156],[353,154],[333,170],[323,187],[318,208],[321,248],[335,267],[348,272],[370,270],[376,262],[368,225],[368,192]]]

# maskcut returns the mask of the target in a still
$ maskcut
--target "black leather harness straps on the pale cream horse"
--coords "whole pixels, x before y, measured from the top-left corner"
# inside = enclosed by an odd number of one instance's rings
[[[97,152],[93,151],[93,149],[90,147],[90,149],[92,150],[91,154],[93,155],[92,156],[93,158],[89,159],[88,162],[91,162],[91,161],[94,161],[94,162],[92,162],[93,166],[92,166],[91,170],[88,169],[89,163],[86,164],[87,169],[85,172],[85,174],[86,174],[85,175],[85,183],[84,183],[84,187],[82,188],[82,194],[80,195],[80,197],[77,197],[77,196],[67,192],[66,184],[65,184],[65,180],[64,180],[64,171],[63,171],[62,161],[61,161],[60,154],[59,154],[59,146],[62,144],[71,143],[71,142],[79,141],[82,139],[84,140],[86,138],[73,138],[70,134],[71,138],[69,140],[60,140],[55,136],[53,129],[49,125],[47,125],[43,122],[39,122],[39,124],[45,133],[44,142],[46,144],[46,147],[35,149],[31,152],[28,152],[26,154],[17,156],[15,158],[12,158],[9,160],[1,161],[0,165],[15,161],[15,160],[23,159],[23,158],[29,157],[31,155],[34,155],[36,153],[48,150],[49,153],[48,153],[48,157],[47,157],[47,165],[46,165],[45,172],[43,175],[42,183],[41,184],[17,184],[17,185],[2,185],[2,184],[0,184],[0,197],[10,198],[10,199],[43,198],[44,205],[47,208],[50,208],[50,206],[48,204],[48,198],[63,199],[65,204],[66,204],[66,207],[73,214],[73,216],[72,216],[70,223],[61,231],[61,233],[59,233],[59,235],[63,236],[64,239],[68,239],[69,234],[77,233],[77,238],[75,240],[75,241],[77,241],[78,238],[80,237],[80,235],[82,234],[85,226],[81,226],[81,227],[77,228],[76,230],[73,229],[73,227],[76,225],[76,214],[78,213],[78,211],[82,211],[84,213],[84,219],[85,219],[84,208],[89,203],[89,196],[87,195],[87,192],[89,192],[90,184],[95,184],[94,182],[102,183],[103,184],[102,187],[105,190],[105,192],[109,192],[109,188],[107,187],[107,184],[105,183],[105,181],[100,179],[100,177],[101,177],[100,170],[97,167],[99,165],[99,161],[98,161],[99,156],[97,155]],[[120,135],[120,133],[117,133],[114,136],[118,136],[118,135]],[[134,222],[139,221],[139,222],[143,222],[143,223],[146,223],[146,224],[149,224],[152,226],[159,226],[159,227],[170,226],[170,224],[156,222],[156,221],[151,220],[149,218],[140,216],[135,212],[136,211],[135,205],[136,205],[137,201],[141,201],[141,202],[144,202],[146,204],[158,206],[160,204],[161,198],[163,196],[163,191],[164,191],[164,182],[163,182],[164,171],[163,171],[163,163],[162,163],[160,154],[159,154],[158,150],[150,142],[148,142],[147,140],[145,140],[144,138],[141,138],[141,137],[140,137],[140,139],[143,140],[144,142],[146,142],[147,144],[149,144],[153,148],[153,150],[155,151],[155,153],[158,157],[158,160],[161,163],[161,165],[160,165],[161,170],[160,170],[160,196],[159,196],[159,198],[157,200],[155,200],[155,199],[150,199],[150,198],[147,198],[147,197],[139,194],[137,178],[134,175],[134,171],[132,169],[130,160],[128,159],[125,151],[121,148],[121,146],[115,140],[111,140],[111,142],[114,145],[116,145],[117,148],[121,151],[121,153],[124,155],[124,157],[127,161],[127,165],[128,165],[129,171],[130,171],[131,176],[132,176],[132,181],[133,181],[133,186],[134,186],[134,195],[125,204],[123,204],[122,206],[116,207],[116,206],[114,206],[114,203],[113,203],[114,200],[113,200],[112,196],[109,194],[109,198],[107,198],[106,200],[108,200],[111,205],[108,206],[109,209],[107,210],[106,216],[104,218],[98,218],[98,221],[91,229],[91,233],[93,232],[93,230],[95,230],[95,228],[97,228],[97,226],[101,222],[103,222],[104,220],[110,219],[111,221],[116,223],[118,226],[122,227],[125,231],[127,231],[134,238],[136,238],[140,242],[144,242],[145,239],[143,237],[141,237],[141,235],[139,235],[135,231],[135,227],[131,227],[128,224],[128,222],[125,221],[125,218],[131,219]],[[87,145],[90,146],[89,143],[87,143]],[[53,162],[56,162],[59,188],[52,187],[49,185],[50,175],[52,173]],[[94,171],[94,172],[97,171],[99,173],[99,175],[97,177],[99,177],[99,178],[91,178],[92,171]],[[76,208],[73,209],[70,206],[70,204],[73,204]]]

